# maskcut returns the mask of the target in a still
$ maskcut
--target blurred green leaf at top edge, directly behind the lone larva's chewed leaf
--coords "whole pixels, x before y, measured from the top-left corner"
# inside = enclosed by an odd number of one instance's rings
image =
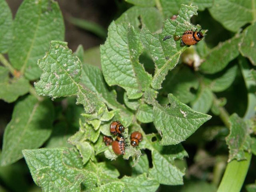
[[[163,14],[168,18],[172,15],[177,15],[182,4],[192,4],[198,6],[200,11],[203,11],[205,8],[212,6],[212,1],[213,0],[160,0],[160,3],[163,8]]]

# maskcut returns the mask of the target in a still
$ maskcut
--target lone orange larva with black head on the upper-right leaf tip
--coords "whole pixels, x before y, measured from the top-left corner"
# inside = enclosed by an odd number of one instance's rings
[[[202,38],[204,38],[204,35],[201,33],[201,30],[199,32],[188,30],[185,31],[181,37],[181,45],[195,45],[201,41]]]

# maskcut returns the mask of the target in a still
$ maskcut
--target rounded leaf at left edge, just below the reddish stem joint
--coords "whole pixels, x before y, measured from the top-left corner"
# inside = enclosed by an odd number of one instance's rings
[[[7,68],[0,66],[0,99],[11,103],[27,92],[29,92],[29,81],[27,79],[23,77],[10,79]]]

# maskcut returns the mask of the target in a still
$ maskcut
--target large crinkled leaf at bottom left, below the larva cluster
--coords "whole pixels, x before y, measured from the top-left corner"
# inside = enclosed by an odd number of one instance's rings
[[[99,182],[93,172],[82,169],[81,157],[73,149],[23,150],[33,180],[43,191],[80,192],[80,184],[93,187]]]

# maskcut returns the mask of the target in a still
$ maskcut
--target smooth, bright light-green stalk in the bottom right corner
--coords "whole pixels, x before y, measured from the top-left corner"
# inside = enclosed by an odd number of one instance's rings
[[[227,164],[217,192],[240,192],[250,166],[252,154],[245,152],[246,160],[233,160]]]

